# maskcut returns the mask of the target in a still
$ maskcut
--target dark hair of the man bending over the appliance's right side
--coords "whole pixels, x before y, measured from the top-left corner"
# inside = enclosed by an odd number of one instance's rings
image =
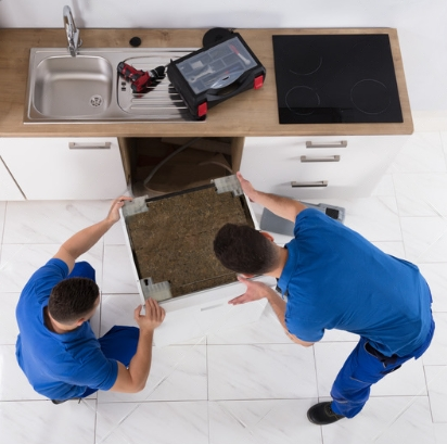
[[[214,252],[226,268],[246,275],[264,275],[279,262],[274,244],[247,225],[224,225],[214,239]]]

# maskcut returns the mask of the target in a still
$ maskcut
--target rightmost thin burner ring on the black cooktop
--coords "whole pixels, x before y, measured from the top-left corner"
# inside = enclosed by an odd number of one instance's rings
[[[373,78],[357,81],[350,89],[350,101],[358,111],[370,115],[384,113],[392,103],[386,85]]]

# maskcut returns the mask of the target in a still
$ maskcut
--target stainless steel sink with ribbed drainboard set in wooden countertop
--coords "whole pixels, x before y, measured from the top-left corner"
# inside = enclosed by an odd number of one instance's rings
[[[166,66],[193,50],[95,48],[72,56],[65,48],[34,48],[24,122],[197,122],[167,77],[135,93],[116,69],[123,61],[143,71]]]

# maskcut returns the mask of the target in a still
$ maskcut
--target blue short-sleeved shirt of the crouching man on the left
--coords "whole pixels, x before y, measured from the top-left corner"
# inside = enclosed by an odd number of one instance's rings
[[[50,259],[29,279],[16,308],[18,365],[36,392],[51,399],[79,397],[88,388],[110,390],[118,376],[117,361],[104,356],[90,322],[63,334],[46,327],[51,290],[67,276],[63,261]]]

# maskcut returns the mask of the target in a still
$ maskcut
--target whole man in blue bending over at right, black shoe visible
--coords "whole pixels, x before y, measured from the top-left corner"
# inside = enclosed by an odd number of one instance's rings
[[[267,297],[289,337],[303,346],[319,341],[325,329],[359,334],[333,383],[332,401],[307,413],[316,424],[353,418],[373,383],[429,347],[434,333],[429,286],[416,265],[383,253],[337,220],[238,177],[253,202],[294,221],[295,229],[284,248],[247,226],[227,224],[219,230],[214,250],[222,265],[245,277],[276,277],[286,297],[240,277],[246,292],[230,303]]]

